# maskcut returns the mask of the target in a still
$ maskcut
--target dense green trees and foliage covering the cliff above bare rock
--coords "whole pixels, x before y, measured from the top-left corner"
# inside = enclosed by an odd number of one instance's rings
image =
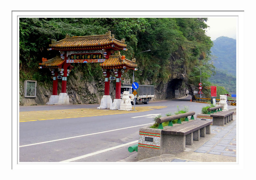
[[[25,79],[51,83],[48,70],[38,70],[42,58],[50,59],[59,52],[49,51],[52,41],[69,36],[105,34],[111,31],[117,40],[125,39],[127,59],[136,58],[136,82],[148,80],[152,85],[166,84],[173,74],[185,74],[188,83],[198,86],[200,72],[203,87],[210,87],[208,78],[215,73],[210,49],[213,45],[205,35],[207,18],[20,18],[20,81]],[[150,52],[140,53],[150,49]],[[74,72],[84,77],[103,79],[99,64],[76,64]],[[132,71],[128,71],[132,78]],[[209,89],[203,88],[209,96]]]

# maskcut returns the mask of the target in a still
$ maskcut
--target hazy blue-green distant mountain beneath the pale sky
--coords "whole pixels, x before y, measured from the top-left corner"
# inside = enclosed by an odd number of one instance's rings
[[[213,65],[216,75],[209,78],[210,82],[223,86],[229,93],[236,92],[236,40],[218,37],[212,46]]]

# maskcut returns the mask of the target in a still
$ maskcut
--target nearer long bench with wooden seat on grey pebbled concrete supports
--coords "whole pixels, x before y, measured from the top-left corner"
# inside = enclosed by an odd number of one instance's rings
[[[192,145],[193,140],[199,141],[205,134],[211,134],[212,121],[190,120],[182,124],[165,127],[161,136],[163,138],[163,154],[175,154],[183,152],[185,145]]]

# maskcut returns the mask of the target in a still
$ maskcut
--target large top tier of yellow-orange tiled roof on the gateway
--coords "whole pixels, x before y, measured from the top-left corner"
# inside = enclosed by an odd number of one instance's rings
[[[57,42],[52,42],[49,46],[52,49],[64,49],[64,48],[88,48],[95,47],[98,48],[110,48],[110,47],[119,47],[124,48],[127,45],[124,44],[124,39],[121,41],[114,38],[114,34],[111,35],[111,32],[108,31],[103,35],[91,35],[91,36],[66,36],[65,39],[62,39]]]

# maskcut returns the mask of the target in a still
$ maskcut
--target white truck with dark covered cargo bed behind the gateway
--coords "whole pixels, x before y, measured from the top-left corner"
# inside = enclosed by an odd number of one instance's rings
[[[137,94],[134,96],[132,92],[134,89],[131,84],[125,84],[121,86],[121,99],[123,97],[124,91],[129,91],[130,100],[132,105],[134,105],[134,101],[136,98],[136,104],[139,102],[143,102],[144,104],[148,104],[149,101],[155,98],[155,86],[152,85],[139,85],[139,88],[136,89]]]

